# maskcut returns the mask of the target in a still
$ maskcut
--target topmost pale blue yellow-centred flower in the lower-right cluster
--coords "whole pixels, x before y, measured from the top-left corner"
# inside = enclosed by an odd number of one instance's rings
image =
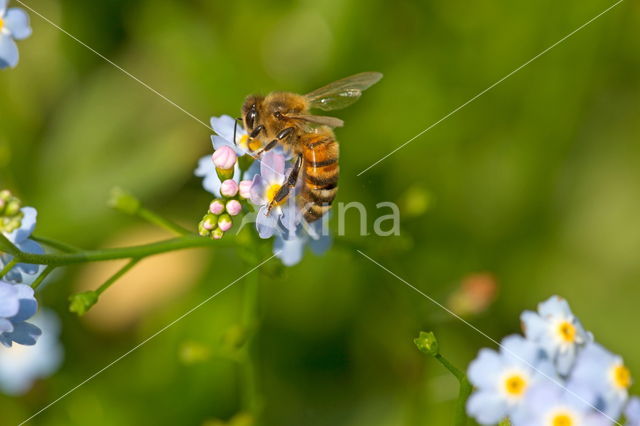
[[[567,301],[558,296],[540,303],[537,313],[523,312],[521,320],[527,339],[544,349],[563,376],[571,370],[580,349],[593,340]]]

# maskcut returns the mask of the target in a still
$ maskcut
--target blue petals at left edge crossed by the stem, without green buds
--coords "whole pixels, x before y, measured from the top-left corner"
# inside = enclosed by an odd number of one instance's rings
[[[43,254],[44,250],[40,244],[30,239],[36,226],[38,212],[33,207],[23,207],[21,211],[24,214],[24,217],[22,218],[20,227],[13,232],[5,232],[4,236],[23,252]],[[10,254],[0,252],[0,270],[11,262],[12,259],[13,256]],[[2,279],[11,283],[21,283],[26,280],[28,281],[25,274],[36,275],[39,270],[40,268],[38,265],[18,263]]]

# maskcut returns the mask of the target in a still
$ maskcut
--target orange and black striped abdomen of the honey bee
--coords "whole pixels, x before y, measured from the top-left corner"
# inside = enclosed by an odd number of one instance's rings
[[[313,222],[329,211],[336,197],[339,147],[329,129],[306,134],[300,141],[304,156],[300,204],[306,221]]]

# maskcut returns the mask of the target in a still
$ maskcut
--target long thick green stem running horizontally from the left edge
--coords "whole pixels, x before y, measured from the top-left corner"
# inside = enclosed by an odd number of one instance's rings
[[[2,238],[4,238],[4,236],[0,234],[0,245],[2,245]],[[188,235],[180,238],[173,238],[170,240],[140,246],[102,250],[87,250],[74,253],[33,254],[22,252],[17,248],[12,251],[7,251],[15,256],[15,258],[20,262],[31,263],[35,265],[61,266],[85,262],[101,262],[105,260],[134,258],[141,259],[143,257],[152,256],[155,254],[166,253],[175,250],[183,250],[187,248],[231,247],[232,245],[233,244],[231,240],[223,239],[214,241],[197,235]]]

